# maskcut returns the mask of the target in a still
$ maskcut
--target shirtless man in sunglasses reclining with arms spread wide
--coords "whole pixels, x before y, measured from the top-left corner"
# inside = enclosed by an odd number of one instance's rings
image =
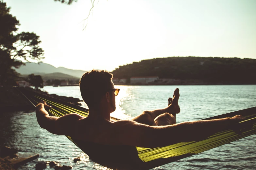
[[[112,74],[106,71],[86,72],[80,80],[80,92],[89,107],[88,117],[68,114],[49,116],[51,108],[44,101],[36,107],[40,127],[56,135],[71,136],[94,162],[112,169],[144,169],[137,147],[156,148],[179,142],[204,139],[243,120],[232,118],[199,120],[176,124],[180,112],[179,89],[168,106],[163,109],[144,111],[132,120],[111,122],[110,113],[115,110],[115,89]]]

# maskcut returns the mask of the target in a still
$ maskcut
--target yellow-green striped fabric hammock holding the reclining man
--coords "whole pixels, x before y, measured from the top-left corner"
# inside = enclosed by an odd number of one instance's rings
[[[43,94],[28,91],[24,88],[17,88],[17,90],[20,91],[34,106],[42,100],[46,101],[47,104],[52,106],[52,109],[49,110],[51,116],[60,117],[69,113],[77,113],[84,117],[88,116],[89,110],[86,108]],[[136,147],[138,156],[143,161],[143,167],[145,169],[151,169],[256,134],[256,107],[230,112],[203,120],[221,119],[233,117],[235,115],[243,115],[246,118],[244,121],[237,124],[237,129],[221,131],[201,141],[182,142],[159,148]],[[117,121],[119,119],[111,117],[111,120]],[[71,137],[67,137],[77,145]],[[79,146],[77,145],[77,147]]]

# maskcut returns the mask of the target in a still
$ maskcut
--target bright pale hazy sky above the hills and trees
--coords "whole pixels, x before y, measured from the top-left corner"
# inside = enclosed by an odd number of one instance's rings
[[[255,0],[4,0],[19,31],[40,36],[44,63],[112,71],[170,56],[256,59]],[[84,26],[87,24],[85,29]]]

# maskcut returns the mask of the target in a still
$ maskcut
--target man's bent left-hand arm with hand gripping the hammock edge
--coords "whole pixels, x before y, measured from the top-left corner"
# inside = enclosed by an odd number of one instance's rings
[[[83,119],[81,115],[71,113],[61,117],[49,116],[48,106],[44,101],[36,106],[36,117],[38,124],[43,129],[46,129],[52,134],[56,135],[71,135],[76,132],[77,121]]]

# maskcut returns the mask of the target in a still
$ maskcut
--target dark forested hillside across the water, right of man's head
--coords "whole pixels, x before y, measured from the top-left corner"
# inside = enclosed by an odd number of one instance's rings
[[[220,57],[167,57],[119,66],[115,78],[159,76],[207,83],[256,84],[256,60]]]

